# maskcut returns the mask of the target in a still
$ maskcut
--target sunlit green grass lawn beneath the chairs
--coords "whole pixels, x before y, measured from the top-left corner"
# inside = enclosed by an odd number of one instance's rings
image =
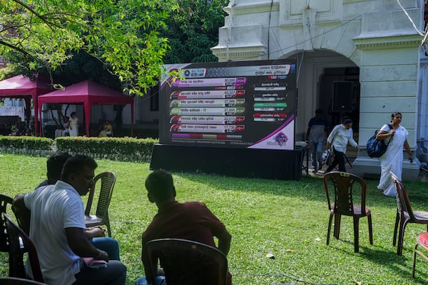
[[[144,180],[148,163],[97,160],[96,173],[111,170],[117,181],[110,206],[113,237],[128,267],[127,284],[143,275],[141,232],[157,212],[148,202]],[[1,155],[0,192],[30,192],[46,176],[46,157]],[[205,202],[233,236],[228,254],[233,284],[428,284],[428,262],[420,258],[411,279],[412,249],[427,230],[408,224],[402,257],[392,246],[397,204],[367,180],[374,245],[367,218],[360,219],[360,253],[354,253],[351,217],[342,217],[341,235],[325,244],[329,210],[321,176],[300,181],[234,178],[174,172],[180,202]],[[428,211],[427,184],[405,182],[414,209]],[[83,197],[83,200],[86,197]],[[13,216],[13,214],[12,214]],[[266,254],[272,253],[275,259]],[[0,276],[7,276],[7,254],[0,253]],[[306,283],[304,283],[305,281]],[[360,283],[359,283],[360,282]]]

